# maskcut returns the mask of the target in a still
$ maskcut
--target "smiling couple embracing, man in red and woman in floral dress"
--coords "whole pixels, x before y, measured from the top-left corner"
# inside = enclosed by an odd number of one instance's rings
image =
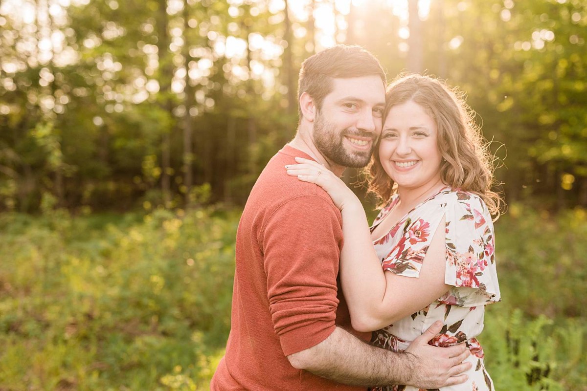
[[[491,157],[464,102],[339,45],[305,60],[299,125],[237,232],[224,390],[493,390],[476,337],[500,300]],[[339,176],[367,166],[369,227]]]

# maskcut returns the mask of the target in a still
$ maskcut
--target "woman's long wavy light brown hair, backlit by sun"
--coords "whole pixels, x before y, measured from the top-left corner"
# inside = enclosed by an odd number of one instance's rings
[[[442,181],[453,189],[479,195],[497,220],[502,200],[497,192],[492,191],[495,157],[489,151],[488,143],[474,121],[475,113],[465,104],[463,95],[430,76],[400,75],[387,87],[385,115],[387,117],[393,106],[409,101],[423,107],[438,128],[437,145],[443,157],[440,166]],[[366,172],[370,174],[367,175],[367,191],[377,195],[377,206],[381,208],[396,192],[396,186],[381,165],[379,144]]]

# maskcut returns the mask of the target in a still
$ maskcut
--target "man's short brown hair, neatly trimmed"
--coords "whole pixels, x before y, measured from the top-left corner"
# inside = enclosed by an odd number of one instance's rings
[[[302,93],[312,97],[316,108],[332,91],[332,79],[377,75],[385,85],[385,72],[379,61],[360,46],[336,45],[308,57],[299,70],[298,103]],[[302,119],[302,110],[299,108]]]

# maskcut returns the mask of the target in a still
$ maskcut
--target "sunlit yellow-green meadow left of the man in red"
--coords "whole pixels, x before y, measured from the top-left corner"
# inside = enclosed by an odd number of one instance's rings
[[[230,329],[238,212],[51,203],[0,215],[0,388],[205,389]]]

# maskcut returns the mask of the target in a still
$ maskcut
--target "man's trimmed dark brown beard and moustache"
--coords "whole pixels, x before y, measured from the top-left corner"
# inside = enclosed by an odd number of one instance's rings
[[[343,167],[365,167],[371,159],[373,148],[375,148],[375,140],[371,142],[369,151],[351,151],[349,152],[343,142],[345,135],[357,137],[369,137],[373,139],[373,133],[361,130],[350,130],[349,128],[338,131],[336,128],[325,120],[320,111],[316,115],[314,121],[314,136],[313,141],[316,148],[331,162]]]

